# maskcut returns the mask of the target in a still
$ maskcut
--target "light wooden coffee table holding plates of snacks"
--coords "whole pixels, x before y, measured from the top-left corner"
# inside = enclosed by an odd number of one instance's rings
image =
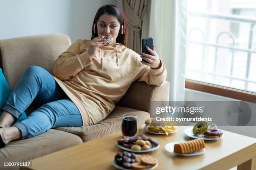
[[[165,144],[192,139],[184,134],[184,130],[189,127],[191,126],[179,126],[178,131],[169,136],[143,133],[138,127],[137,135],[145,134],[160,143],[159,149],[147,153],[158,159],[157,170],[228,170],[234,166],[238,166],[238,170],[256,170],[256,138],[224,130],[220,140],[205,141],[206,152],[202,155],[185,157],[168,153],[164,149]],[[117,146],[120,138],[121,132],[113,133],[36,158],[32,160],[32,169],[115,170],[112,160],[116,153],[122,151]]]

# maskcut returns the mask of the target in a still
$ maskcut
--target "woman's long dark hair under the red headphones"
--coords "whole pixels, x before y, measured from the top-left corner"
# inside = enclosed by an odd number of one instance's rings
[[[118,9],[116,9],[116,7],[114,5],[103,5],[102,7],[100,7],[95,15],[94,21],[93,21],[93,25],[95,24],[95,33],[92,30],[92,38],[98,37],[98,30],[97,30],[97,21],[99,20],[100,16],[103,14],[108,14],[108,15],[114,15],[120,25],[123,24],[124,25],[124,21],[123,21],[123,16],[120,13],[120,11]],[[92,25],[92,27],[93,27]],[[125,25],[124,25],[125,27]],[[121,27],[120,27],[121,29]],[[120,32],[120,31],[119,31]],[[126,43],[126,30],[124,34],[120,34],[118,33],[118,37],[116,38],[116,42],[122,43],[123,45],[127,46]]]

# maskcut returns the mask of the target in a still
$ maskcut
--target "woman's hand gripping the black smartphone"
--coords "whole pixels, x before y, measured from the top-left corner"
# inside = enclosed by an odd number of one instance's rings
[[[145,53],[141,53],[141,58],[143,60],[146,60],[147,62],[141,61],[142,64],[144,65],[148,65],[149,67],[153,68],[153,69],[158,69],[161,67],[161,62],[160,59],[156,53],[155,48],[153,47],[154,50],[151,50],[149,47],[146,47],[148,52],[151,55],[145,54]]]

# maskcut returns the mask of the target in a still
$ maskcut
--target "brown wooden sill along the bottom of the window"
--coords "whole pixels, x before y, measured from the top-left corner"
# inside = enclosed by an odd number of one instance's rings
[[[222,87],[218,85],[211,85],[205,82],[199,82],[199,81],[188,80],[188,79],[186,79],[185,87],[188,89],[207,92],[214,95],[220,95],[220,96],[230,97],[237,100],[256,103],[256,93],[236,90],[236,89]]]

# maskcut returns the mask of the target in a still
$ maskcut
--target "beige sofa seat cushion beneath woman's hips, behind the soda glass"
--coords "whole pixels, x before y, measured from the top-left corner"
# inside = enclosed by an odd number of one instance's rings
[[[104,135],[110,135],[112,133],[121,130],[121,123],[124,114],[133,114],[137,116],[137,125],[143,124],[145,120],[149,118],[149,113],[141,110],[131,109],[128,107],[116,106],[113,112],[101,122],[91,126],[71,127],[71,128],[55,128],[57,130],[63,130],[68,133],[73,133],[82,138],[83,142],[100,138]]]

